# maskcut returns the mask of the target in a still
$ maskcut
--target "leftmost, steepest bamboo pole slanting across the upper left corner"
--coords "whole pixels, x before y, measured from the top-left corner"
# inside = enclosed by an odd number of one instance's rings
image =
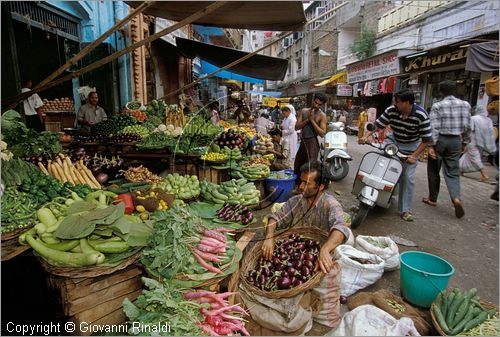
[[[94,42],[90,43],[89,45],[87,45],[82,50],[80,50],[78,52],[78,54],[76,54],[75,56],[73,56],[69,61],[67,61],[65,64],[63,64],[61,67],[59,67],[59,69],[57,69],[52,74],[50,74],[49,76],[47,76],[43,81],[41,81],[40,83],[38,83],[31,91],[28,91],[28,92],[25,92],[25,93],[22,93],[22,94],[19,94],[19,95],[13,97],[12,98],[13,99],[12,104],[9,105],[6,110],[12,109],[13,107],[16,106],[16,104],[19,101],[21,101],[21,100],[23,100],[23,99],[25,99],[25,98],[33,95],[34,93],[39,92],[40,88],[44,88],[44,86],[47,83],[50,83],[57,76],[61,75],[66,69],[68,69],[72,65],[75,65],[78,61],[80,61],[82,58],[84,58],[88,53],[90,53],[97,46],[99,46],[99,44],[101,42],[103,42],[104,40],[106,40],[108,38],[108,36],[110,36],[111,34],[113,34],[116,30],[118,30],[119,28],[121,28],[127,22],[129,22],[130,19],[132,19],[134,16],[136,16],[139,13],[141,13],[142,11],[144,11],[151,4],[152,4],[152,2],[150,2],[150,1],[145,1],[142,4],[140,4],[136,9],[134,9],[132,12],[130,12],[129,15],[127,15],[125,18],[123,18],[122,20],[120,20],[119,22],[117,22],[113,27],[111,27],[104,34],[102,34],[97,40],[95,40]]]

